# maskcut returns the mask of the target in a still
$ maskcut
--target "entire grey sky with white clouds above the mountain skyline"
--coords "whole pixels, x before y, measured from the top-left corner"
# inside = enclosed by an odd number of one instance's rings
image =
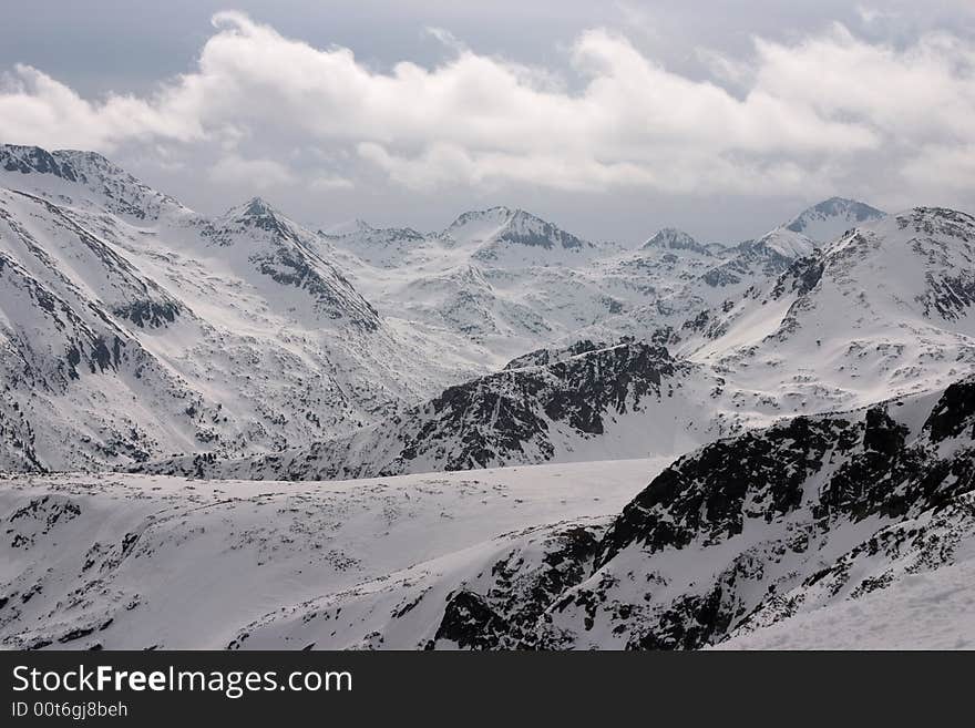
[[[506,204],[733,242],[834,194],[975,212],[975,3],[32,0],[3,9],[0,142],[311,225]]]

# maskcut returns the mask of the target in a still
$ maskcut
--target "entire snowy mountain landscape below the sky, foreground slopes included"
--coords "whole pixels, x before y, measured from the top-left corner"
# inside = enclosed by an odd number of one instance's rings
[[[975,564],[961,211],[318,228],[2,145],[0,351],[7,646],[768,645]]]

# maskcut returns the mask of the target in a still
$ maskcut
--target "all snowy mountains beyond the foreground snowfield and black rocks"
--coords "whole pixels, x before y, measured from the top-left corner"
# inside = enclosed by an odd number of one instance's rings
[[[318,479],[677,455],[972,370],[962,213],[833,199],[792,227],[878,221],[721,250],[674,228],[596,245],[505,207],[433,234],[312,233],[259,198],[211,219],[98,155],[3,148],[10,468]],[[649,351],[676,393],[642,381]],[[572,390],[598,430],[554,403]]]

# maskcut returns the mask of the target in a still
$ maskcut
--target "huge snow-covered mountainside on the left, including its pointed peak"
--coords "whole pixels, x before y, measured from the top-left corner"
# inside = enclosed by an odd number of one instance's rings
[[[2,468],[277,450],[476,371],[263,201],[207,219],[86,153],[3,146],[0,171]]]

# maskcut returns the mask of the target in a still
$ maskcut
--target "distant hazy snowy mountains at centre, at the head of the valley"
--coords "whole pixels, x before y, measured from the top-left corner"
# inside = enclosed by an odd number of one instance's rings
[[[622,309],[588,270],[620,246],[520,209],[463,213],[432,233],[353,221],[321,238],[380,312],[408,316],[489,368]]]

